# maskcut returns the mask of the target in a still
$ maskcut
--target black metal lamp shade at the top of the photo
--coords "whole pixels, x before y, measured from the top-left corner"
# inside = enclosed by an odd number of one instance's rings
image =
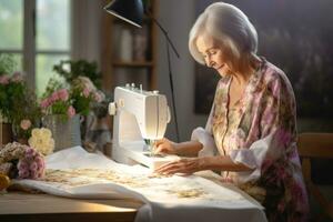
[[[142,27],[143,4],[141,0],[112,0],[104,7],[104,10],[135,27]]]

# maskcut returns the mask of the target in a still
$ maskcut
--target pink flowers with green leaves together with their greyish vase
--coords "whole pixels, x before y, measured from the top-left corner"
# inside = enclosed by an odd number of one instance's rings
[[[103,99],[89,78],[78,77],[69,87],[50,80],[41,109],[43,125],[52,131],[57,150],[81,145],[81,117],[89,114],[92,103]]]

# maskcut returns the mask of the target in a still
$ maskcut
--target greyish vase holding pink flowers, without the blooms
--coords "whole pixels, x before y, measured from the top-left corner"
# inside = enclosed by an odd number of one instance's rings
[[[81,145],[79,114],[72,118],[60,114],[46,115],[42,120],[42,124],[52,132],[54,151]]]

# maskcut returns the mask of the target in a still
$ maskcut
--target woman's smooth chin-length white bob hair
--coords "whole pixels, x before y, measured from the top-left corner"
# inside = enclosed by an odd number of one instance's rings
[[[196,48],[199,36],[211,37],[221,43],[233,67],[242,57],[250,58],[258,50],[258,33],[249,18],[239,8],[224,2],[209,6],[190,31],[190,52],[199,63],[204,64],[203,56]]]

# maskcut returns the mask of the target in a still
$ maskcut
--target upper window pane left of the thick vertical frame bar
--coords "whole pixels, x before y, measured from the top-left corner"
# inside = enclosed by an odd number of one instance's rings
[[[0,49],[23,46],[23,0],[0,0]]]

